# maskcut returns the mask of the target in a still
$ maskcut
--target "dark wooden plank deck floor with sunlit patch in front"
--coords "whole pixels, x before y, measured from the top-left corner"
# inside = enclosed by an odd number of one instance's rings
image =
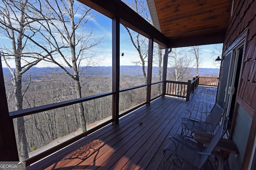
[[[185,109],[210,111],[216,90],[198,86],[189,102],[158,98],[150,106],[122,117],[119,125],[108,125],[27,169],[162,169],[166,137],[180,133]]]

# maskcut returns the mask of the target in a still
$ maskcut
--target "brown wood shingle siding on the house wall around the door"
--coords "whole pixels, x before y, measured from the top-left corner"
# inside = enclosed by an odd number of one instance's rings
[[[230,16],[226,38],[223,45],[223,58],[228,51],[234,48],[234,43],[242,42],[244,39],[244,54],[242,68],[240,72],[238,91],[236,94],[236,103],[234,106],[234,120],[232,121],[230,138],[236,133],[236,126],[239,126],[236,119],[238,108],[242,107],[252,118],[252,125],[247,128],[249,132],[248,142],[245,144],[246,149],[240,150],[244,152],[242,159],[242,169],[249,167],[249,162],[252,155],[255,131],[256,131],[256,1],[255,0],[238,0],[234,6],[234,12]],[[222,72],[223,65],[221,67]],[[221,78],[220,78],[221,79]],[[225,81],[225,80],[221,80]],[[242,128],[242,127],[241,127]],[[242,134],[240,134],[242,135]],[[237,138],[238,139],[238,138]],[[234,142],[237,139],[234,140]],[[232,164],[232,163],[231,163]]]

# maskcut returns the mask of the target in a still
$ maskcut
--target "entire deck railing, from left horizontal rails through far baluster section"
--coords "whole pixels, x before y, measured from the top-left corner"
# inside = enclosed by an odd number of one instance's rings
[[[158,92],[158,85],[162,85],[166,83],[166,90],[165,92]],[[169,96],[175,96],[175,97],[180,97],[180,98],[186,98],[186,101],[190,100],[190,94],[194,93],[194,90],[197,88],[199,83],[199,78],[193,78],[193,80],[188,80],[188,82],[175,82],[175,81],[160,81],[160,82],[154,82],[152,84],[142,84],[140,86],[135,86],[135,87],[130,87],[130,88],[125,88],[125,89],[120,89],[119,93],[122,92],[126,92],[126,91],[130,91],[130,90],[136,90],[139,88],[145,88],[145,94],[146,94],[146,88],[148,88],[148,86],[155,86],[155,90],[151,91],[152,94],[152,98],[150,98],[150,101],[162,96],[162,95],[169,95]],[[156,90],[158,89],[158,90]],[[159,94],[160,93],[160,94]],[[95,99],[99,99],[99,98],[103,98],[103,97],[107,97],[107,96],[112,96],[114,95],[114,92],[107,92],[104,94],[98,94],[98,95],[94,95],[94,96],[88,96],[88,97],[84,97],[84,98],[80,98],[80,99],[75,99],[75,100],[69,100],[69,101],[64,101],[64,102],[59,102],[59,103],[55,103],[55,104],[48,104],[45,106],[39,106],[39,107],[33,107],[33,108],[28,108],[28,109],[23,109],[23,110],[18,110],[18,111],[11,111],[9,112],[9,116],[11,119],[15,119],[17,117],[22,117],[22,116],[27,116],[27,115],[32,115],[32,114],[39,114],[40,112],[45,112],[45,111],[49,111],[51,109],[58,109],[61,107],[66,107],[66,106],[70,106],[73,104],[78,104],[80,102],[88,102],[91,100],[95,100]],[[142,95],[142,94],[140,94]],[[141,104],[138,104],[132,108],[126,109],[124,111],[121,111],[119,113],[119,117],[126,115],[127,113],[130,113],[131,111],[143,106],[147,104],[147,101],[142,102]],[[26,160],[26,163],[28,164],[32,164],[42,158],[44,158],[45,156],[48,156],[50,154],[52,154],[53,152],[56,152],[59,149],[62,149],[63,147],[66,147],[68,145],[70,145],[71,143],[74,143],[75,141],[86,137],[87,135],[93,133],[94,131],[97,131],[98,129],[108,125],[109,123],[113,122],[114,119],[112,117],[112,119],[106,120],[104,123],[89,129],[88,131],[79,134],[78,136],[69,139],[68,141],[65,141],[49,150],[46,150],[36,156],[33,156],[31,158],[29,158],[28,160]]]

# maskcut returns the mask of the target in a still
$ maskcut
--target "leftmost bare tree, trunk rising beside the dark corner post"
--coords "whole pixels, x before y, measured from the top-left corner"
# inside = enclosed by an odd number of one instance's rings
[[[35,33],[30,31],[30,25],[34,20],[27,18],[29,0],[2,0],[0,6],[0,33],[6,37],[2,43],[2,56],[6,66],[12,74],[13,96],[15,100],[14,110],[23,109],[23,97],[30,85],[30,78],[25,88],[22,88],[22,75],[32,66],[38,64],[43,57],[34,53],[30,39]],[[11,68],[10,63],[15,63],[15,68]],[[24,118],[15,119],[17,129],[17,140],[20,160],[28,158],[28,146],[24,129]]]

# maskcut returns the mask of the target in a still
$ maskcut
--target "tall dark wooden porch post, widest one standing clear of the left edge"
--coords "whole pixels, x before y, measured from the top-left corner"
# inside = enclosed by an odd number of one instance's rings
[[[119,123],[119,83],[120,83],[120,18],[112,19],[112,118]]]

